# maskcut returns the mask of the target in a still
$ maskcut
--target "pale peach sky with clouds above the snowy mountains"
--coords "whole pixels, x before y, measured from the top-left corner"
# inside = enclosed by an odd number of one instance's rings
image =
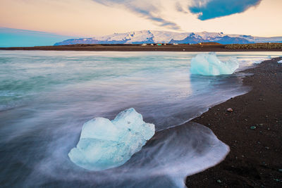
[[[281,0],[1,0],[0,27],[59,37],[136,30],[276,37],[281,8]]]

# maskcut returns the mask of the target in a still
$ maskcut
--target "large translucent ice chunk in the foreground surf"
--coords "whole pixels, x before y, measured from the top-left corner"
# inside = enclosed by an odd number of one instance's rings
[[[154,124],[145,123],[134,108],[118,113],[111,121],[94,118],[83,125],[78,145],[68,157],[88,170],[114,168],[140,151],[154,132]]]

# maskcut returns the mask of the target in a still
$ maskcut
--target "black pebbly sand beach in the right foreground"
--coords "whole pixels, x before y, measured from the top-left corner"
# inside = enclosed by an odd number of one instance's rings
[[[187,187],[282,186],[282,64],[277,63],[281,59],[243,70],[253,74],[243,78],[243,85],[252,87],[250,92],[191,120],[209,127],[231,151],[218,165],[188,176]]]

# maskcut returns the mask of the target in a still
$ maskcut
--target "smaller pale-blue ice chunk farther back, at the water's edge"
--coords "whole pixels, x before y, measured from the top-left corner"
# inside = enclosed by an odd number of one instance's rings
[[[191,60],[191,74],[197,75],[230,75],[239,67],[236,58],[220,61],[214,52],[197,54]]]

